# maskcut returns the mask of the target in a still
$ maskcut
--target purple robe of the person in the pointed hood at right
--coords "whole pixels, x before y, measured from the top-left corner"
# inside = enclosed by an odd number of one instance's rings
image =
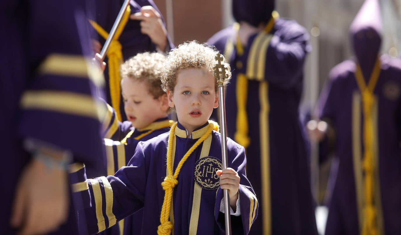
[[[398,209],[401,207],[401,60],[383,55],[380,61],[381,74],[374,92],[376,108],[373,114],[374,145],[378,149],[379,179],[376,180],[380,185],[376,193],[380,192],[381,197],[378,216],[384,222],[383,234],[397,234],[401,231],[398,222],[401,219]],[[329,121],[335,131],[334,153],[339,160],[326,234],[360,233],[357,195],[361,192],[357,191],[356,185],[361,181],[355,178],[355,174],[361,172],[356,160],[363,157],[363,112],[354,71],[354,60],[338,64],[332,69],[330,80],[320,96],[320,118]],[[354,149],[360,151],[355,154]]]

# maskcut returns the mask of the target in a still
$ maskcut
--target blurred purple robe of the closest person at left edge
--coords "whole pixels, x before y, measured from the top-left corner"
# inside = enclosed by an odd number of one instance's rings
[[[0,234],[14,234],[10,217],[15,189],[22,170],[32,159],[22,145],[25,139],[69,150],[73,161],[94,168],[103,167],[104,162],[93,96],[95,85],[88,78],[83,59],[83,54],[89,54],[83,52],[89,49],[89,38],[82,2],[5,0],[0,9],[4,32],[0,36],[4,55],[0,70],[0,97],[4,100],[1,155],[7,166],[1,174],[6,180]],[[74,68],[57,66],[68,67],[71,61]],[[79,182],[76,178],[70,181]],[[70,203],[70,211],[74,203],[79,201]],[[55,233],[76,234],[75,219],[70,213]]]

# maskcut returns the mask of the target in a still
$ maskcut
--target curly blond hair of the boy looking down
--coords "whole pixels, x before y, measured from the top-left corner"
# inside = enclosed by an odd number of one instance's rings
[[[138,53],[121,65],[121,77],[148,82],[149,93],[153,95],[153,98],[159,98],[166,94],[161,88],[160,81],[165,59],[166,56],[158,52]]]

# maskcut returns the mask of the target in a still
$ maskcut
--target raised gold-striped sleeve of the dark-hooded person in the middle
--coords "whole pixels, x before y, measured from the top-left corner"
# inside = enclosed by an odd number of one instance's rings
[[[291,88],[302,80],[309,34],[294,20],[279,19],[277,30],[249,38],[247,77]]]

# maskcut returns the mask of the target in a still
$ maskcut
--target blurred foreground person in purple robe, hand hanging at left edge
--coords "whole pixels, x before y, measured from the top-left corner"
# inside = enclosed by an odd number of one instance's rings
[[[104,163],[92,94],[104,81],[88,77],[84,6],[6,0],[0,9],[0,234],[77,234],[79,201],[71,201],[71,192],[88,186],[85,179],[69,181],[67,171]]]

